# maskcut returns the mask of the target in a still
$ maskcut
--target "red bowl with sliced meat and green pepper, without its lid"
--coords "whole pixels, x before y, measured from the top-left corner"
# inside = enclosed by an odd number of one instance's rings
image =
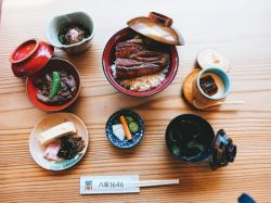
[[[26,80],[30,102],[47,112],[69,107],[79,97],[80,75],[68,61],[53,58],[37,74]]]

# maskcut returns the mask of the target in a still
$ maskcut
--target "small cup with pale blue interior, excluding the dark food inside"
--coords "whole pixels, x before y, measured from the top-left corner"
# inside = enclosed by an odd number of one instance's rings
[[[210,79],[215,83],[216,91],[214,94],[206,92],[207,90],[203,87],[202,79],[206,77],[211,77]],[[197,109],[215,106],[219,102],[224,101],[225,97],[231,91],[231,80],[229,75],[218,67],[202,69],[192,83],[193,105]]]

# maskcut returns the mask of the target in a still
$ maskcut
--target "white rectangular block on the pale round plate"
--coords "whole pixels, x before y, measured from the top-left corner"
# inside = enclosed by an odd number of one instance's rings
[[[47,145],[55,139],[67,136],[69,134],[76,134],[75,125],[73,122],[65,122],[40,132],[38,135],[38,139],[41,145]]]

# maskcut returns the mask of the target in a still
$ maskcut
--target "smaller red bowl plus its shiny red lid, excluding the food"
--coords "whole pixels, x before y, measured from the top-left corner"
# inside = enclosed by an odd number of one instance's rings
[[[79,97],[80,75],[77,68],[68,61],[52,58],[54,48],[46,41],[29,39],[20,45],[10,55],[11,68],[14,76],[26,78],[26,94],[29,101],[38,109],[47,112],[57,112],[69,107]],[[34,81],[37,77],[49,72],[65,71],[73,75],[76,90],[70,100],[62,104],[46,104],[37,99],[37,87]]]

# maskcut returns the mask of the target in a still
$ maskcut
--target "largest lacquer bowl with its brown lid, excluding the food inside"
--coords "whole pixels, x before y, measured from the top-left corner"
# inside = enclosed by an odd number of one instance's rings
[[[141,16],[132,18],[127,23],[127,25],[128,27],[113,35],[104,48],[102,58],[104,74],[115,89],[128,96],[149,97],[156,94],[168,87],[177,74],[179,56],[176,46],[184,45],[183,38],[171,27],[172,18],[156,12],[151,12],[147,17]],[[156,45],[162,46],[163,50],[165,50],[169,55],[169,65],[163,81],[158,86],[144,91],[137,91],[134,89],[124,87],[114,75],[114,66],[116,65],[116,46],[119,42],[124,42],[136,36],[150,39]]]

